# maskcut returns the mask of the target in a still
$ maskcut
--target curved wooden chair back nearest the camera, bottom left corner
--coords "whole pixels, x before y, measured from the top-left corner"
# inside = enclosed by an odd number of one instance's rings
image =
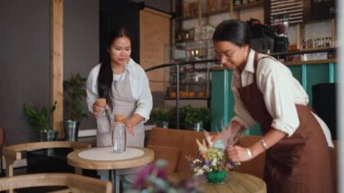
[[[67,187],[53,192],[112,192],[110,181],[71,173],[39,173],[0,178],[0,191],[16,188]]]

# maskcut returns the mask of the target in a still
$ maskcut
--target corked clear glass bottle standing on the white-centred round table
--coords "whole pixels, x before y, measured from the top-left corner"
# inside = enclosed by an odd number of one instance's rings
[[[112,148],[115,153],[123,153],[126,151],[127,131],[123,121],[123,116],[115,115],[112,129]]]

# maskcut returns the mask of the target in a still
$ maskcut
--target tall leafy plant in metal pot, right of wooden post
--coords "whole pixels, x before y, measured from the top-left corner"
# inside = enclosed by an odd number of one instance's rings
[[[86,78],[79,73],[72,74],[71,78],[63,81],[64,91],[64,134],[66,140],[78,139],[79,126],[82,119],[87,118],[83,99],[86,97],[84,89]]]

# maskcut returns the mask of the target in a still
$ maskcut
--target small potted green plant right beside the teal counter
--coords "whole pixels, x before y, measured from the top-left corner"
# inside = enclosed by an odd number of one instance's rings
[[[210,120],[210,111],[207,108],[186,105],[180,108],[180,118],[186,130],[203,130],[205,121]]]

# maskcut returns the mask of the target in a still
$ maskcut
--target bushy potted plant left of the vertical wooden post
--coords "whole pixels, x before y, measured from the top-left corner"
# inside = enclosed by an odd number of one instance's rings
[[[41,141],[57,140],[57,130],[53,130],[51,122],[56,104],[57,102],[55,101],[50,110],[44,105],[42,108],[26,103],[23,105],[24,114],[27,117],[30,127],[39,133]]]

